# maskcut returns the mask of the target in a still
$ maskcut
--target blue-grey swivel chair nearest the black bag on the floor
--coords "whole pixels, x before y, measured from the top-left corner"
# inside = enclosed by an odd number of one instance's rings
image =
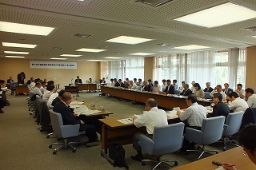
[[[174,162],[175,165],[178,165],[178,160],[162,160],[162,155],[182,148],[183,130],[184,124],[179,122],[177,124],[154,127],[153,139],[148,136],[141,136],[138,144],[142,147],[142,150],[158,157],[158,160],[142,160],[142,165],[146,165],[146,161],[157,162],[158,164],[152,170],[160,164],[166,164],[166,162]],[[166,164],[166,166],[171,168],[169,164]]]

